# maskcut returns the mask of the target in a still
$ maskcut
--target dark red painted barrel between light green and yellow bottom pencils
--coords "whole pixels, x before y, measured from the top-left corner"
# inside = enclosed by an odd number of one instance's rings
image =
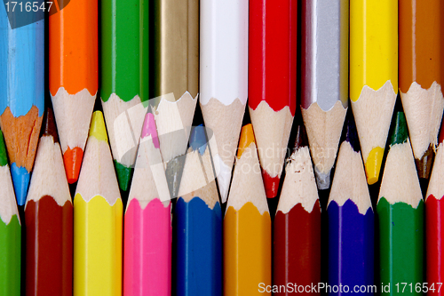
[[[28,201],[25,210],[27,295],[73,293],[73,204],[52,196]]]

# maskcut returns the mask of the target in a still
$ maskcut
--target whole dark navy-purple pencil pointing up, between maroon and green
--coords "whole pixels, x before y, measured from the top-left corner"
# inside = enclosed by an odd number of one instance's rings
[[[369,287],[374,284],[375,218],[351,114],[346,124],[327,206],[329,285]]]

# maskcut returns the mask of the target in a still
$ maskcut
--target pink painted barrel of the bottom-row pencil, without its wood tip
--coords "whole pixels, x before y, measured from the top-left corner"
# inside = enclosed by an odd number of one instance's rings
[[[159,199],[140,207],[137,199],[125,212],[123,294],[171,294],[171,209]]]

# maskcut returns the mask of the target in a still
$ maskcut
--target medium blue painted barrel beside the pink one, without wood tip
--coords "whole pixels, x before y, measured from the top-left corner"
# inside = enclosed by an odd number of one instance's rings
[[[222,295],[222,212],[199,198],[178,199],[174,218],[176,295]]]

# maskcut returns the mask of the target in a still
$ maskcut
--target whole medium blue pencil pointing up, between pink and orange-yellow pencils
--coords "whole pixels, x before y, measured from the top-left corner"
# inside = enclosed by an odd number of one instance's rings
[[[194,127],[174,212],[178,296],[222,295],[222,212],[206,142]]]

